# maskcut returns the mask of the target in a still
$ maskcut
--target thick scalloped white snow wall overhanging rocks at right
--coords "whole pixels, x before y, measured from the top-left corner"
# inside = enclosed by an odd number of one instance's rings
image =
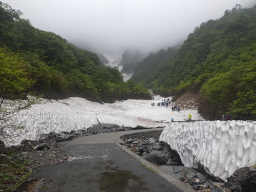
[[[205,170],[226,181],[238,168],[256,164],[255,121],[174,122],[160,141],[176,150],[182,163]]]

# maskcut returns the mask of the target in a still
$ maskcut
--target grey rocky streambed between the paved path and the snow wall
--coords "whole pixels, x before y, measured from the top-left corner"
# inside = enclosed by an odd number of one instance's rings
[[[197,191],[255,191],[256,167],[238,169],[225,183],[207,174],[202,166],[198,169],[183,166],[179,155],[168,144],[159,142],[161,132],[135,133],[124,135],[121,139],[125,147]]]

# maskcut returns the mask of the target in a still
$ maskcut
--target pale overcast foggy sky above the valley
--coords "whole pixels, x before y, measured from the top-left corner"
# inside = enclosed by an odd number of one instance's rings
[[[70,42],[99,52],[126,48],[155,51],[171,47],[209,19],[236,4],[256,0],[3,0],[23,18]]]

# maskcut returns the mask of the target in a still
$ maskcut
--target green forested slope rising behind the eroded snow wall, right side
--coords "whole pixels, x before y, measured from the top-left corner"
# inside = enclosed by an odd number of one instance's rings
[[[153,63],[155,70],[147,68]],[[161,50],[138,68],[132,78],[154,93],[175,99],[189,91],[200,93],[199,112],[205,118],[229,113],[256,120],[256,6],[226,10],[195,28],[176,55]]]

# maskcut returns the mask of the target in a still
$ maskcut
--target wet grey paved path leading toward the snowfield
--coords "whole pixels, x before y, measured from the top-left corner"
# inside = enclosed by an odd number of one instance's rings
[[[149,130],[125,134],[143,131]],[[34,191],[182,191],[177,188],[178,181],[171,184],[118,147],[115,142],[122,142],[119,136],[123,134],[98,134],[71,141],[66,147],[69,161],[40,169],[34,178],[44,180]]]

